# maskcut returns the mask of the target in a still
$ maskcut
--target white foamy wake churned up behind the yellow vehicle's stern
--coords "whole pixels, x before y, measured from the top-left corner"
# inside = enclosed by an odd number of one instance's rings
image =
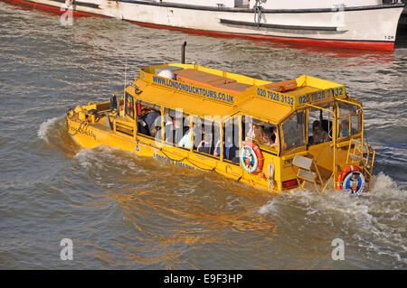
[[[327,190],[324,194],[294,190],[273,197],[257,211],[284,219],[288,210],[294,208],[296,214],[291,215],[290,221],[309,225],[309,229],[315,228],[309,223],[332,226],[340,235],[351,235],[354,245],[364,247],[366,253],[392,256],[397,266],[404,266],[407,264],[407,191],[402,187],[380,172],[371,190],[357,197],[337,190]]]

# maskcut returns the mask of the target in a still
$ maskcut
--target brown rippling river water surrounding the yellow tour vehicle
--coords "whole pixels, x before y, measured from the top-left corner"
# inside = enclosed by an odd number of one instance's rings
[[[278,196],[213,172],[81,149],[65,113],[140,67],[186,61],[254,78],[308,74],[364,102],[373,189]],[[298,48],[60,16],[0,3],[0,268],[407,269],[407,45]],[[126,64],[127,63],[127,64]],[[70,238],[73,260],[62,261]],[[333,260],[332,241],[345,243]]]

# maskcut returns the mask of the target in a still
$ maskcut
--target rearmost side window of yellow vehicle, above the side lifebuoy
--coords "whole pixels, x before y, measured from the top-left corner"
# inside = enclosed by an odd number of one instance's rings
[[[242,117],[242,140],[253,140],[263,147],[278,147],[279,136],[276,125],[255,119],[251,116]]]

